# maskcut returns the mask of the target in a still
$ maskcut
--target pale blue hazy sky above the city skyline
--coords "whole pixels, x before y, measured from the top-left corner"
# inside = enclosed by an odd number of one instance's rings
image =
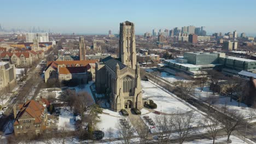
[[[117,33],[119,23],[129,20],[136,33],[194,25],[207,32],[255,34],[255,5],[255,0],[2,0],[0,23],[4,28]]]

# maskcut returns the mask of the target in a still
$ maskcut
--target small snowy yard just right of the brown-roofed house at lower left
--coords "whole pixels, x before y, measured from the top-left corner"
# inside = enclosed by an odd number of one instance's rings
[[[58,129],[67,127],[68,130],[75,130],[75,116],[73,112],[67,107],[61,107],[59,116]]]

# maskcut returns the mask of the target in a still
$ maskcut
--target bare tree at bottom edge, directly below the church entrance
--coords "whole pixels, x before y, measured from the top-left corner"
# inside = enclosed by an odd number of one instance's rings
[[[123,136],[124,143],[129,144],[131,141],[131,136],[135,132],[135,130],[132,128],[130,122],[127,122],[127,120],[126,120],[126,122],[119,123],[117,125],[117,129],[118,129],[120,136]]]

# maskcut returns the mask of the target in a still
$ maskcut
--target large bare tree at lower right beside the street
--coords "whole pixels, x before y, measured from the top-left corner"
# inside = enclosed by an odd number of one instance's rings
[[[243,116],[234,110],[226,110],[225,115],[219,116],[219,122],[222,123],[221,127],[228,134],[228,141],[232,131],[236,130],[239,125],[244,123]]]

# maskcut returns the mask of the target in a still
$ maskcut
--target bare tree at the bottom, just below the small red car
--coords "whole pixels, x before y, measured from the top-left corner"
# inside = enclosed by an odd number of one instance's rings
[[[171,139],[174,119],[167,115],[158,115],[155,117],[156,130],[159,133],[159,142],[166,144]]]

